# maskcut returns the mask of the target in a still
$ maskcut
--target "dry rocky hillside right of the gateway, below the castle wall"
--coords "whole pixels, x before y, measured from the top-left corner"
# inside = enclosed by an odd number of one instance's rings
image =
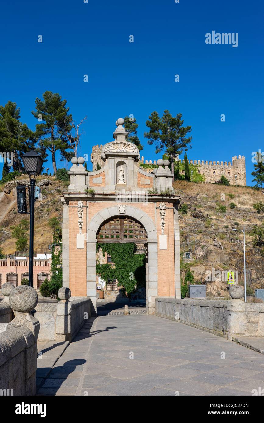
[[[187,214],[180,213],[182,279],[190,268],[195,281],[206,283],[206,293],[214,296],[228,292],[219,271],[235,270],[239,283],[243,283],[243,233],[232,228],[242,230],[245,226],[247,283],[253,289],[264,288],[264,246],[254,246],[250,235],[254,225],[264,223],[264,215],[253,209],[254,203],[264,201],[263,193],[251,187],[186,181],[176,181],[174,187],[181,196],[181,207],[188,206]],[[231,203],[235,204],[233,209]],[[226,212],[219,206],[225,206]],[[189,260],[184,258],[185,252],[191,253]],[[211,281],[210,272],[214,272]]]

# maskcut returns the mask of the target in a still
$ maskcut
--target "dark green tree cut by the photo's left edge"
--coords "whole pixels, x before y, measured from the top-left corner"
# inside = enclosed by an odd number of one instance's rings
[[[0,106],[0,151],[13,153],[13,170],[23,171],[20,156],[35,143],[34,132],[20,121],[20,109],[16,103],[8,101],[5,106]]]

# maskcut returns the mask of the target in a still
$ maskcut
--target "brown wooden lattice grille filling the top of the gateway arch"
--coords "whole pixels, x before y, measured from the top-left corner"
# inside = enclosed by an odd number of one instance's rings
[[[97,233],[98,242],[140,242],[145,243],[147,234],[137,220],[126,217],[116,217],[106,221]]]

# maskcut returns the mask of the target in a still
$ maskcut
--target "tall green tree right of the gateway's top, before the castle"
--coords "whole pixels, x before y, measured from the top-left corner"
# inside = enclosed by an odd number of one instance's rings
[[[192,140],[192,137],[186,137],[192,128],[191,126],[182,126],[184,121],[181,120],[181,116],[181,113],[178,113],[173,118],[168,110],[164,110],[162,117],[159,117],[159,114],[154,111],[149,116],[149,120],[146,121],[149,131],[144,132],[144,137],[148,138],[148,144],[156,144],[156,154],[165,150],[170,157],[173,182],[174,158],[176,154],[187,151],[188,144]]]

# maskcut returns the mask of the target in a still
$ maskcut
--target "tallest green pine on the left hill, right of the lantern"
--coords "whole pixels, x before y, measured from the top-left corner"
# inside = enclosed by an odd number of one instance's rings
[[[51,152],[54,173],[57,173],[55,152],[60,151],[63,159],[71,159],[73,152],[67,151],[71,148],[68,142],[67,132],[72,130],[72,116],[69,114],[69,107],[66,107],[66,100],[62,100],[58,93],[45,91],[43,100],[36,98],[36,112],[33,116],[43,122],[36,125],[36,136],[39,139],[38,152],[46,159],[47,153]]]

